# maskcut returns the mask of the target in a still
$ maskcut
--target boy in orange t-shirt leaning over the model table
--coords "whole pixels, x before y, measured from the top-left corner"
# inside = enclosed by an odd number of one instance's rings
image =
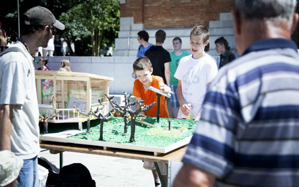
[[[146,56],[139,57],[135,60],[133,64],[133,70],[137,76],[137,79],[134,81],[133,86],[133,96],[136,97],[136,101],[144,101],[145,105],[150,105],[153,102],[156,104],[149,110],[141,112],[148,117],[157,117],[157,95],[155,91],[149,90],[149,86],[153,86],[157,89],[161,89],[166,93],[173,93],[166,84],[164,84],[163,78],[159,76],[152,75],[153,67],[151,61]],[[160,117],[169,118],[169,113],[167,110],[167,102],[165,96],[160,96]],[[138,106],[136,106],[138,107]],[[167,167],[164,163],[158,163],[161,175],[163,177],[164,184],[167,181]],[[153,176],[155,179],[155,185],[161,186],[159,176],[155,165],[153,162],[144,161],[144,169],[152,170]]]

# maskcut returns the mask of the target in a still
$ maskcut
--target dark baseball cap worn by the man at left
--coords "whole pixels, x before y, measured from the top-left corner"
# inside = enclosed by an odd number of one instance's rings
[[[33,7],[27,10],[24,15],[26,16],[26,25],[53,25],[59,30],[65,29],[65,25],[56,20],[52,12],[44,7]]]

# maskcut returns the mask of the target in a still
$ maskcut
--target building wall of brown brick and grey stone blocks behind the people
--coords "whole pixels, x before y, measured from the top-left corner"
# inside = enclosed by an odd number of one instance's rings
[[[190,30],[195,25],[204,25],[210,29],[210,51],[215,51],[214,41],[225,37],[236,53],[234,45],[233,23],[230,11],[233,0],[120,0],[121,29],[115,39],[116,56],[136,56],[138,42],[137,33],[145,29],[149,34],[149,42],[155,44],[155,33],[158,29],[166,32],[163,47],[171,52],[171,41],[181,37],[183,50],[189,50]],[[299,12],[297,6],[296,12]],[[292,35],[293,41],[299,45],[298,26]],[[299,48],[299,47],[298,47]]]

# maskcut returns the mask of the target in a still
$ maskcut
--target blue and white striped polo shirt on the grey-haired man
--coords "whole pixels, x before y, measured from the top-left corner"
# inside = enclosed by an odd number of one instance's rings
[[[299,186],[299,56],[292,41],[258,41],[221,68],[183,162],[215,174],[215,186]]]

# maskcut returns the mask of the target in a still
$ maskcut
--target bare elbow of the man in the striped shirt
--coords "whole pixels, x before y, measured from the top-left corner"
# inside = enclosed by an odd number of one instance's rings
[[[215,180],[215,175],[184,164],[175,177],[172,187],[212,187]]]

